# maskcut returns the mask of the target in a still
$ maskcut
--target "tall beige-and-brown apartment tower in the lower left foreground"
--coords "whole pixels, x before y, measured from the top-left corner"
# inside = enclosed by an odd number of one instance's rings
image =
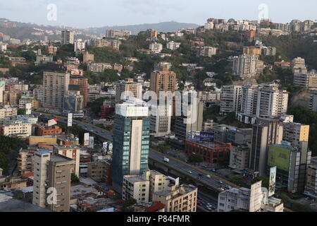
[[[74,161],[63,155],[37,151],[34,157],[34,182],[32,203],[55,212],[70,210],[70,172]],[[51,198],[51,188],[56,189],[56,200]],[[48,194],[46,194],[46,192]],[[56,201],[56,202],[54,202]]]

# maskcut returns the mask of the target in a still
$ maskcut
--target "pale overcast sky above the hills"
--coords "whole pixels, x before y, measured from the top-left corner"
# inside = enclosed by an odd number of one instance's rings
[[[56,20],[49,4],[56,5]],[[0,0],[0,18],[75,28],[171,20],[203,25],[207,18],[258,20],[259,15],[287,23],[315,21],[316,8],[316,0]]]

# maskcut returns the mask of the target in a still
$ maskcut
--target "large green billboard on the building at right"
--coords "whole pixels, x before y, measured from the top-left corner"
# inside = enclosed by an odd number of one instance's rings
[[[268,148],[268,166],[276,166],[278,169],[288,172],[290,169],[290,150],[277,145],[270,145]]]

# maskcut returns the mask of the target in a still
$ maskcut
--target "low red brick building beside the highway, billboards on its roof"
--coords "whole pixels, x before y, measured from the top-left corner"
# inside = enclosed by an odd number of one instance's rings
[[[195,153],[204,158],[205,162],[217,163],[223,160],[231,149],[231,143],[185,141],[185,153]]]

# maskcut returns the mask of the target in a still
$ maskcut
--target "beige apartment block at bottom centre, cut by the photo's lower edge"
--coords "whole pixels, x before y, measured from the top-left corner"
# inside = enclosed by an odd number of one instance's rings
[[[196,212],[197,187],[185,184],[171,186],[166,191],[154,192],[152,199],[163,203],[166,212]]]

